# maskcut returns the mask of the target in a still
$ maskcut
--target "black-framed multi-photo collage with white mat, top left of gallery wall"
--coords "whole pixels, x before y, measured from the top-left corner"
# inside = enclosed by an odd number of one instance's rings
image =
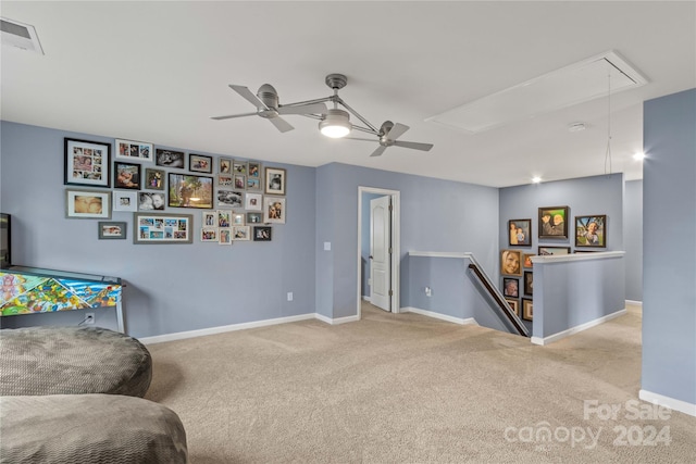
[[[65,137],[64,185],[111,187],[111,143]]]

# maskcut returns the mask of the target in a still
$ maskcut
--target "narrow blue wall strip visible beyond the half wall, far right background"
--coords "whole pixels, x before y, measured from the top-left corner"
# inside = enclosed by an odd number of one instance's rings
[[[626,300],[643,301],[643,180],[625,184],[623,244],[626,251]]]

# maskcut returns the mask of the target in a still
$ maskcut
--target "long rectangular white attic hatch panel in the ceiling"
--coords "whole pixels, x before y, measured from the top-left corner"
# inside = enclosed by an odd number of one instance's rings
[[[617,52],[608,51],[425,121],[477,134],[607,97],[609,85],[613,93],[641,87],[647,81]]]

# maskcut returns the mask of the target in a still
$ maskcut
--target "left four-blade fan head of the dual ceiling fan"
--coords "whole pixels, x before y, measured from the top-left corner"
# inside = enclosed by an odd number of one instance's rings
[[[257,95],[251,93],[247,87],[244,86],[235,86],[229,84],[229,88],[239,93],[244,99],[246,99],[249,103],[253,104],[257,108],[257,111],[251,113],[241,113],[241,114],[228,114],[224,116],[212,116],[211,120],[231,120],[233,117],[245,117],[245,116],[261,116],[265,120],[269,120],[273,125],[282,133],[286,133],[288,130],[293,130],[294,127],[284,118],[281,117],[281,114],[322,114],[326,112],[326,105],[324,103],[295,103],[283,105],[278,102],[278,92],[275,88],[270,84],[264,84],[259,88]]]

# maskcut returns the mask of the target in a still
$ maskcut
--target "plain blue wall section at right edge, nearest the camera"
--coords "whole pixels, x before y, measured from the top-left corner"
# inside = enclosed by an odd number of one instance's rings
[[[644,104],[644,390],[696,405],[696,89]]]

